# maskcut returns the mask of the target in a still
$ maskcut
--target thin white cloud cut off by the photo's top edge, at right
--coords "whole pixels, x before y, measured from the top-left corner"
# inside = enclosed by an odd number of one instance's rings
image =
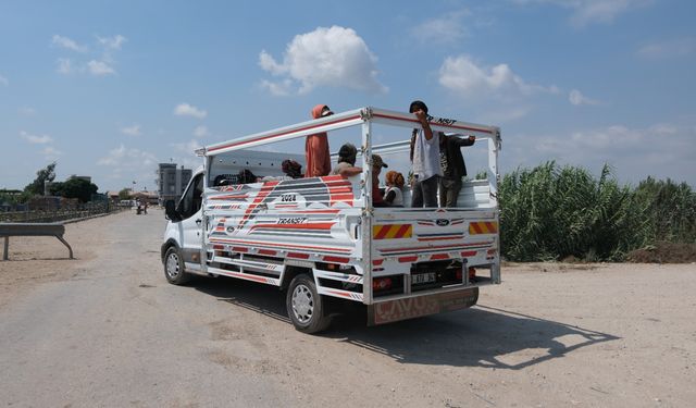
[[[593,23],[609,24],[617,16],[652,0],[514,0],[519,4],[546,3],[572,10],[570,22],[575,27]]]

